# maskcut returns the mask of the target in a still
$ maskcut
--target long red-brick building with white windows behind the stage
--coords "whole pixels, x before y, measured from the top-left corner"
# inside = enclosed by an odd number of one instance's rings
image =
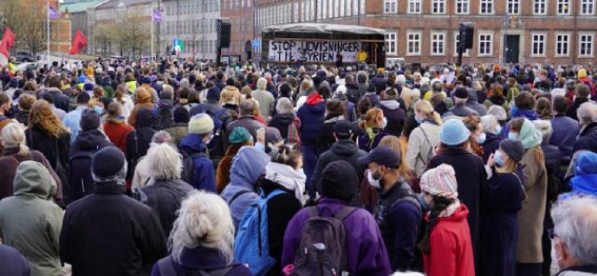
[[[465,63],[596,61],[595,0],[257,0],[253,14],[246,15],[250,9],[236,4],[241,0],[221,1],[223,14],[233,22],[255,16],[254,37],[262,26],[298,22],[382,28],[387,56],[404,57],[407,63],[455,62],[462,22],[475,26]],[[232,8],[224,8],[231,1]],[[233,28],[233,41],[247,39],[243,35]],[[233,47],[227,53],[243,51]]]

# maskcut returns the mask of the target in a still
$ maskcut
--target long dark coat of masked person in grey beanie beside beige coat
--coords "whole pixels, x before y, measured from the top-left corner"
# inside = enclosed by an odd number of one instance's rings
[[[480,231],[481,275],[515,275],[519,236],[517,214],[525,192],[518,176],[496,174],[487,183],[483,197]]]

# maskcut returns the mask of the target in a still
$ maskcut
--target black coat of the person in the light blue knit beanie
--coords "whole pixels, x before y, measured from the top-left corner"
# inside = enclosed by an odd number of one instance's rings
[[[487,183],[485,164],[477,155],[463,148],[443,148],[439,150],[438,156],[429,160],[427,167],[434,168],[442,163],[454,167],[458,182],[458,199],[469,207],[470,240],[473,252],[478,252],[481,189]]]

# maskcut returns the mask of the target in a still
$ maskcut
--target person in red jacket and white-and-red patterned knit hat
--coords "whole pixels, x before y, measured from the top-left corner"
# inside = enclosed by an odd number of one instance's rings
[[[423,201],[429,206],[427,227],[419,245],[425,273],[475,275],[469,209],[461,203],[454,168],[440,165],[421,176]]]

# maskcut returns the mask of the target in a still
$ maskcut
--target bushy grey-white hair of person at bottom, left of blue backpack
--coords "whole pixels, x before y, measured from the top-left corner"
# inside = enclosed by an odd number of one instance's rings
[[[230,264],[234,257],[234,224],[230,208],[217,194],[191,191],[178,210],[168,248],[180,263],[184,248],[214,248]]]

